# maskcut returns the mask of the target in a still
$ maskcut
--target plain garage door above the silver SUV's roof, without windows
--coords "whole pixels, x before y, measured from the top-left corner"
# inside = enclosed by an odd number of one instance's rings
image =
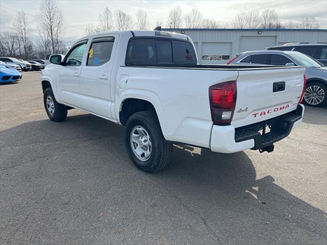
[[[267,47],[276,45],[276,36],[242,36],[240,41],[240,53],[245,51],[266,50]]]

